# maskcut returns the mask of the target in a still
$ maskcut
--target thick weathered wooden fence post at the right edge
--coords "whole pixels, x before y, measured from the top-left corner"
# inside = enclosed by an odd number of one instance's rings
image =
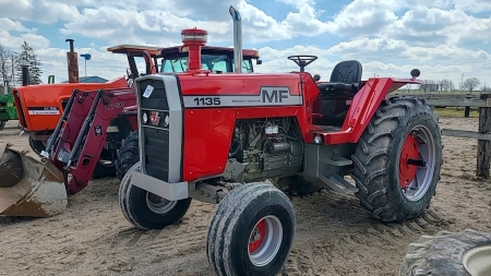
[[[487,100],[491,98],[491,94],[481,94],[481,99]],[[489,133],[491,131],[491,107],[479,108],[479,132]],[[478,140],[478,155],[477,155],[477,176],[489,178],[489,166],[491,161],[491,142],[486,140]]]

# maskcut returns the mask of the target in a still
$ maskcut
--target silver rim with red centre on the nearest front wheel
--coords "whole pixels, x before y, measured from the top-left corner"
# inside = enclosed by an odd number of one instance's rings
[[[283,225],[279,218],[272,215],[263,217],[249,236],[249,260],[255,266],[267,265],[278,253],[282,240]]]

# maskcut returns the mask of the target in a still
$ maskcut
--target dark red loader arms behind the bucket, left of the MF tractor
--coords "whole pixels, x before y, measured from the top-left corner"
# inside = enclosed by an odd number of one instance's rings
[[[67,194],[75,194],[87,185],[108,132],[115,128],[108,127],[124,107],[135,104],[133,88],[73,92],[45,153],[63,171]]]

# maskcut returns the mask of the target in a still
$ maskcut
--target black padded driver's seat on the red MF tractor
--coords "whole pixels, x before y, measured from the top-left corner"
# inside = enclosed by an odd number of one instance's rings
[[[328,83],[318,85],[321,97],[352,97],[361,84],[361,63],[357,60],[342,61],[334,67]]]

